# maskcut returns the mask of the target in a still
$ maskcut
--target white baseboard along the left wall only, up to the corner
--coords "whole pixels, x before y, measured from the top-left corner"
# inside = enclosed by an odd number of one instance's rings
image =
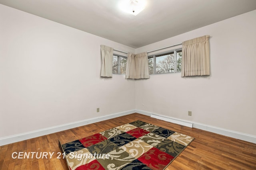
[[[91,123],[96,123],[99,121],[104,121],[104,120],[108,120],[108,119],[112,119],[112,118],[116,118],[116,117],[120,117],[120,116],[124,116],[124,115],[129,115],[129,114],[135,113],[135,112],[136,112],[136,110],[129,110],[129,111],[124,111],[124,112],[120,112],[120,113],[114,113],[114,114],[110,114],[110,115],[94,117],[91,119],[85,119],[82,121],[66,123],[66,124],[58,125],[58,126],[54,126],[54,127],[39,129],[36,131],[30,131],[27,133],[21,133],[21,134],[17,134],[17,135],[8,136],[8,137],[3,137],[3,138],[0,138],[0,146],[7,145],[10,143],[14,143],[14,142],[24,141],[24,140],[31,139],[34,137],[48,135],[51,133],[56,133],[59,131],[64,131],[67,129],[72,129],[74,127],[79,127],[79,126],[88,125]]]

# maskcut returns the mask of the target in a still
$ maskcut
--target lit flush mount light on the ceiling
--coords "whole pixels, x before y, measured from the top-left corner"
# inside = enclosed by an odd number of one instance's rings
[[[146,0],[120,0],[119,8],[136,16],[139,14],[146,6]]]

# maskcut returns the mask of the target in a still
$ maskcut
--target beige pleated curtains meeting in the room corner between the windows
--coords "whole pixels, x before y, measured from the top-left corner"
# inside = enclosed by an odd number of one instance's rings
[[[136,55],[128,53],[125,78],[149,78],[148,54],[146,52]]]

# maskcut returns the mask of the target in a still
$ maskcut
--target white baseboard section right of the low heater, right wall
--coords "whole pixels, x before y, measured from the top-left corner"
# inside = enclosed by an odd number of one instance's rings
[[[193,122],[193,127],[256,144],[256,136]]]

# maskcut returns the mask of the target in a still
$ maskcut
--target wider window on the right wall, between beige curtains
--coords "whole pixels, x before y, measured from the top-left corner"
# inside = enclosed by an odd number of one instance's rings
[[[148,56],[149,74],[181,72],[182,50]]]

